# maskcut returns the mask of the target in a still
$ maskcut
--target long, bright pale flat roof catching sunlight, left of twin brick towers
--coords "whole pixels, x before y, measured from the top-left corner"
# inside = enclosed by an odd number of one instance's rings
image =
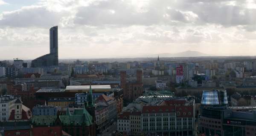
[[[111,89],[110,85],[92,85],[93,90]],[[67,86],[66,90],[89,90],[90,86]]]

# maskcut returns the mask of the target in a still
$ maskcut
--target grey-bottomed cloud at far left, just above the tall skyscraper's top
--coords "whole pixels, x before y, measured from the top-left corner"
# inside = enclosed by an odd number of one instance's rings
[[[51,27],[61,22],[65,12],[53,12],[44,6],[27,6],[16,11],[3,12],[0,25],[10,27]]]

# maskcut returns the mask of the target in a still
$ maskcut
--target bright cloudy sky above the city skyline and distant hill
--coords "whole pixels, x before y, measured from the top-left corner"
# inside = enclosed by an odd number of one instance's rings
[[[0,59],[256,55],[256,0],[0,0]]]

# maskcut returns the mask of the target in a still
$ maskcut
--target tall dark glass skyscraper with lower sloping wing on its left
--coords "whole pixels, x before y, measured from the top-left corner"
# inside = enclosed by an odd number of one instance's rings
[[[58,26],[50,28],[50,53],[32,61],[31,67],[58,66]]]

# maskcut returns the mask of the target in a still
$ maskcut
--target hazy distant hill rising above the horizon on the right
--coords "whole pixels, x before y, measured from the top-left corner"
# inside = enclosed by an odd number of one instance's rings
[[[181,53],[161,53],[160,57],[201,57],[201,56],[211,56],[209,54],[201,53],[198,51],[185,51]]]

